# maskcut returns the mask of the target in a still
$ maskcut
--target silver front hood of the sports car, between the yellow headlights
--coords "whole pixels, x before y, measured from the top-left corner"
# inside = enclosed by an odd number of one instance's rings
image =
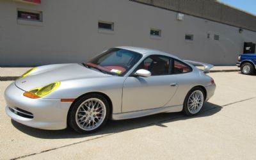
[[[24,91],[45,86],[58,81],[70,81],[72,79],[90,79],[108,77],[111,75],[86,68],[83,65],[59,64],[36,67],[28,76],[17,79],[15,84]]]

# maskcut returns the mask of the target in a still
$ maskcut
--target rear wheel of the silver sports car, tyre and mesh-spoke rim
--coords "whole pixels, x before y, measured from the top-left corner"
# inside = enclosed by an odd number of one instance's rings
[[[194,100],[196,95],[198,95],[198,98]],[[198,114],[204,106],[204,101],[205,101],[204,90],[202,90],[202,88],[198,86],[192,88],[188,92],[184,100],[183,110],[182,110],[183,113],[186,114],[187,116],[193,116]]]

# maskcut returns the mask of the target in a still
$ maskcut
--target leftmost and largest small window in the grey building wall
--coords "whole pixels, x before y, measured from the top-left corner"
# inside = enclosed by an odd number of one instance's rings
[[[33,21],[42,22],[42,12],[18,10],[17,11],[17,19],[33,20]]]

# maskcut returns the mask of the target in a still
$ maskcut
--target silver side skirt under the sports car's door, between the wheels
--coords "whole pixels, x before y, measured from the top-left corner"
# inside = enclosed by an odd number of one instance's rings
[[[154,115],[157,113],[170,113],[170,112],[180,112],[182,111],[183,105],[178,106],[167,106],[161,108],[145,109],[140,111],[131,111],[125,113],[113,113],[112,120],[125,120],[131,118],[138,118],[141,116]]]

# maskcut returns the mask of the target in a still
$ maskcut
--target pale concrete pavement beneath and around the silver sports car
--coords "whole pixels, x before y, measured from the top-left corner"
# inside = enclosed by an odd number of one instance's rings
[[[95,134],[12,121],[0,81],[0,159],[255,159],[256,76],[211,73],[216,93],[193,117],[162,113],[109,121]]]

